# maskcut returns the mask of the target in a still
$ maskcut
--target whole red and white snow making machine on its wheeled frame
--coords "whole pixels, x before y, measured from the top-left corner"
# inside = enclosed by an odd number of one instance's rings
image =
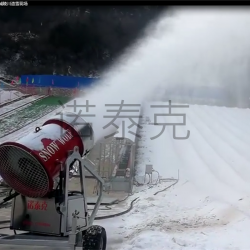
[[[15,191],[2,202],[12,199],[10,229],[14,234],[0,237],[0,244],[19,249],[21,245],[106,249],[105,229],[93,225],[104,184],[87,158],[93,147],[92,126],[71,112],[58,113],[23,138],[0,145],[0,175]],[[81,191],[70,191],[69,172],[76,162]],[[84,188],[86,170],[100,184],[91,214]]]

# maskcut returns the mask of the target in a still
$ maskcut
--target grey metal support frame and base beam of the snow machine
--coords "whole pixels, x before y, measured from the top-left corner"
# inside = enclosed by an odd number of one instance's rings
[[[37,246],[37,247],[49,247],[50,249],[52,248],[60,248],[60,249],[70,249],[70,250],[75,250],[76,247],[81,247],[82,246],[82,232],[88,229],[90,226],[93,225],[93,221],[96,217],[96,214],[98,212],[99,206],[102,201],[102,195],[103,195],[103,186],[104,186],[104,181],[103,179],[96,173],[94,170],[94,164],[89,161],[86,157],[81,158],[81,155],[78,152],[78,148],[75,147],[74,151],[69,155],[65,162],[65,183],[64,183],[64,202],[62,205],[60,205],[60,210],[62,213],[65,215],[67,214],[67,209],[68,209],[68,188],[69,188],[69,169],[70,167],[74,164],[75,161],[80,162],[80,178],[81,178],[81,193],[82,196],[84,197],[85,200],[85,205],[87,209],[87,202],[86,202],[86,197],[84,194],[84,183],[85,183],[85,175],[84,175],[84,168],[87,169],[99,182],[99,195],[97,202],[94,206],[94,209],[89,215],[86,213],[85,218],[80,218],[79,212],[77,211],[77,207],[75,212],[72,214],[72,226],[71,226],[71,231],[68,233],[66,236],[50,236],[50,235],[37,235],[33,232],[27,232],[27,233],[21,233],[21,234],[16,234],[16,235],[8,235],[8,236],[3,236],[0,237],[0,245],[9,245],[12,248],[20,248],[20,245],[23,246]],[[14,206],[14,201],[12,206]],[[13,208],[13,207],[12,207]],[[88,210],[87,210],[88,211]],[[78,220],[79,219],[86,219],[87,225],[86,227],[80,227],[78,225]],[[66,221],[66,220],[65,220]],[[64,222],[65,223],[65,222]],[[1,248],[1,247],[0,247]]]

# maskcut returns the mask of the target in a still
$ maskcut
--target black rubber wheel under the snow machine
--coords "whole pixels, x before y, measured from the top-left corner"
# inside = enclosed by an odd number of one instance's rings
[[[101,226],[91,226],[82,235],[83,250],[106,250],[107,234]]]

